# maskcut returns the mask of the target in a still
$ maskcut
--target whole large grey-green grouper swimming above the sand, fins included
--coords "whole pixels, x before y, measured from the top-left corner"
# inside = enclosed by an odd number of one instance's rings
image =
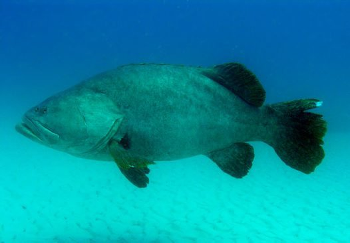
[[[115,161],[134,185],[148,165],[203,154],[241,178],[254,159],[247,141],[272,146],[306,174],[324,157],[326,123],[315,99],[263,105],[265,90],[243,65],[138,64],[98,74],[28,110],[16,130],[48,147]]]

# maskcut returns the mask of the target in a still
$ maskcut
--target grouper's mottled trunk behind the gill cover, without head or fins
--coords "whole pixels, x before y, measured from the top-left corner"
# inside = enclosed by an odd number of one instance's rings
[[[181,159],[257,140],[259,108],[201,71],[175,65],[128,65],[81,86],[111,98],[124,117],[116,137],[127,133],[129,151],[149,160]]]

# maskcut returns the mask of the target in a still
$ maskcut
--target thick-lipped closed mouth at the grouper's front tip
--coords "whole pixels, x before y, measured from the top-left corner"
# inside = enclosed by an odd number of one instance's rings
[[[25,137],[39,143],[54,143],[58,141],[58,134],[52,132],[38,120],[32,120],[27,116],[22,118],[22,123],[15,127],[16,131]]]

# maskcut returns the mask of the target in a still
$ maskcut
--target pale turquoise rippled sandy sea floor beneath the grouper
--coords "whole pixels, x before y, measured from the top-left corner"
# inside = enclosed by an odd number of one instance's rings
[[[2,132],[0,242],[348,242],[350,134],[328,133],[311,175],[254,142],[248,176],[204,156],[151,167],[138,189],[113,162]]]

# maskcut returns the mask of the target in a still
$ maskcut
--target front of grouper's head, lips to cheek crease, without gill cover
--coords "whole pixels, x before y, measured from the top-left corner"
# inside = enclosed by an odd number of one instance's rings
[[[66,150],[87,137],[84,118],[72,96],[55,95],[30,108],[16,130],[43,145]]]

